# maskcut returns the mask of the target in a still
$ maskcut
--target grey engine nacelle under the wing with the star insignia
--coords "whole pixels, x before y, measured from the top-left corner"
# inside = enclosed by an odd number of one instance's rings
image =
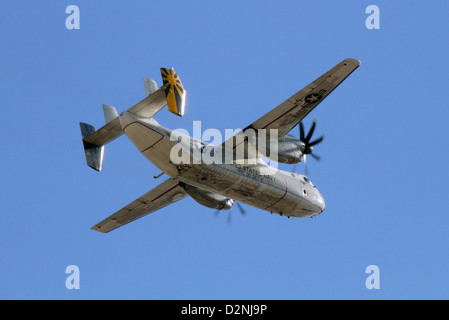
[[[279,138],[277,149],[273,148],[274,145],[276,144],[271,143],[270,145],[267,143],[267,148],[265,150],[265,155],[270,160],[286,164],[296,164],[302,161],[304,142],[301,140],[292,136],[285,136]]]

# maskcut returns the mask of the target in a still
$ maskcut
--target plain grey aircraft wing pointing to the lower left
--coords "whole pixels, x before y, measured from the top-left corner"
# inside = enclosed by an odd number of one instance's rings
[[[187,193],[179,185],[179,181],[170,178],[110,217],[96,224],[91,229],[107,233],[171,203],[181,200],[186,196]]]

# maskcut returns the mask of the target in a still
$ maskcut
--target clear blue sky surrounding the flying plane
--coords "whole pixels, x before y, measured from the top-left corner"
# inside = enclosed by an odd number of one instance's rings
[[[80,8],[67,30],[65,8]],[[380,30],[365,9],[380,8]],[[9,1],[0,12],[2,299],[449,298],[449,5],[443,1]],[[160,183],[126,138],[101,173],[80,121],[126,110],[174,67],[188,90],[170,128],[241,128],[344,58],[354,72],[306,119],[315,219],[184,199],[104,235],[90,227]],[[294,134],[297,134],[294,132]],[[312,159],[310,159],[312,160]],[[283,166],[283,169],[288,169]],[[298,170],[303,172],[303,167]],[[67,290],[65,269],[80,269]],[[380,268],[367,290],[365,268]]]

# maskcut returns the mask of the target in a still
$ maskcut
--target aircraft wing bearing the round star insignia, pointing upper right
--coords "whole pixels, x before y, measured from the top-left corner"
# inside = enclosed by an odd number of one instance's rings
[[[267,133],[269,129],[278,129],[279,137],[287,135],[359,66],[360,61],[356,59],[343,60],[304,89],[243,129],[241,133],[248,129],[267,129]]]

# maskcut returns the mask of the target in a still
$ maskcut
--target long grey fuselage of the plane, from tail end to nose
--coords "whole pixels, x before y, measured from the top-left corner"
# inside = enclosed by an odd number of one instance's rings
[[[307,177],[255,164],[208,163],[201,153],[207,143],[184,136],[190,143],[190,162],[174,163],[171,154],[183,136],[161,126],[154,118],[138,118],[124,112],[122,129],[137,149],[172,178],[209,190],[250,206],[288,217],[313,217],[325,209],[324,199]],[[174,141],[173,141],[174,140]],[[193,160],[193,161],[192,161]]]

